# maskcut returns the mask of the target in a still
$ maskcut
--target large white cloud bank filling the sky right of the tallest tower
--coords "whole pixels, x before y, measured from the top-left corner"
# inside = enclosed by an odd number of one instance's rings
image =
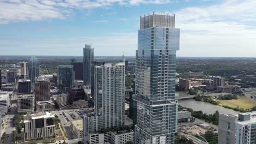
[[[226,0],[176,11],[181,28],[179,56],[255,57],[256,1]]]

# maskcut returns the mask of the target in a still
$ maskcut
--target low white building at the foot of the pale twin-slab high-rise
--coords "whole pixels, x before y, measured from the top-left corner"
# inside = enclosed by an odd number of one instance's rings
[[[105,133],[90,133],[88,136],[89,144],[98,143],[112,143],[112,144],[126,144],[127,142],[134,142],[134,132],[131,129],[118,131],[108,131]]]

